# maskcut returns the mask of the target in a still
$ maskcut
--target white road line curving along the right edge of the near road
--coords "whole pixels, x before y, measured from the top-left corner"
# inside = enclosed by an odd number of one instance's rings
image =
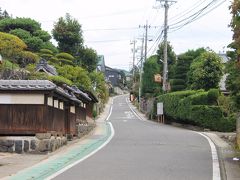
[[[219,161],[218,161],[218,154],[216,150],[216,146],[213,143],[213,141],[206,136],[203,133],[196,132],[197,134],[200,134],[201,136],[205,137],[208,140],[208,143],[210,144],[211,147],[211,152],[212,152],[212,169],[213,169],[213,180],[221,180],[221,175],[220,175],[220,166],[219,166]]]

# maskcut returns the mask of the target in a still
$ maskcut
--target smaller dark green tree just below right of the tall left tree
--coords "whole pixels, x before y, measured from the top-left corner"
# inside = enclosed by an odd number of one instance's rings
[[[77,64],[87,69],[88,72],[92,72],[97,68],[98,56],[97,52],[92,48],[83,48],[79,52],[77,58]]]

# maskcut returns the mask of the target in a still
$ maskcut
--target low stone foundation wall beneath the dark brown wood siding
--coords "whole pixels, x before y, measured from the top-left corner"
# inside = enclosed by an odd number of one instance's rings
[[[50,133],[29,136],[3,136],[0,137],[0,152],[10,153],[47,153],[55,151],[67,144],[65,136],[55,137]]]

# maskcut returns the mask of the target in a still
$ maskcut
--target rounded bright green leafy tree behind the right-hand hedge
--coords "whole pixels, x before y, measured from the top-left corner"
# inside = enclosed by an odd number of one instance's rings
[[[222,76],[221,58],[214,52],[205,52],[190,66],[188,83],[192,89],[218,88]]]

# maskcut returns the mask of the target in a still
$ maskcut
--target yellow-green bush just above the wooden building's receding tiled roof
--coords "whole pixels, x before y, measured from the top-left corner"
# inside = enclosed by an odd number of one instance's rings
[[[62,67],[58,67],[58,74],[59,76],[69,79],[78,87],[83,87],[87,90],[91,90],[92,88],[88,72],[81,67],[64,65]]]

